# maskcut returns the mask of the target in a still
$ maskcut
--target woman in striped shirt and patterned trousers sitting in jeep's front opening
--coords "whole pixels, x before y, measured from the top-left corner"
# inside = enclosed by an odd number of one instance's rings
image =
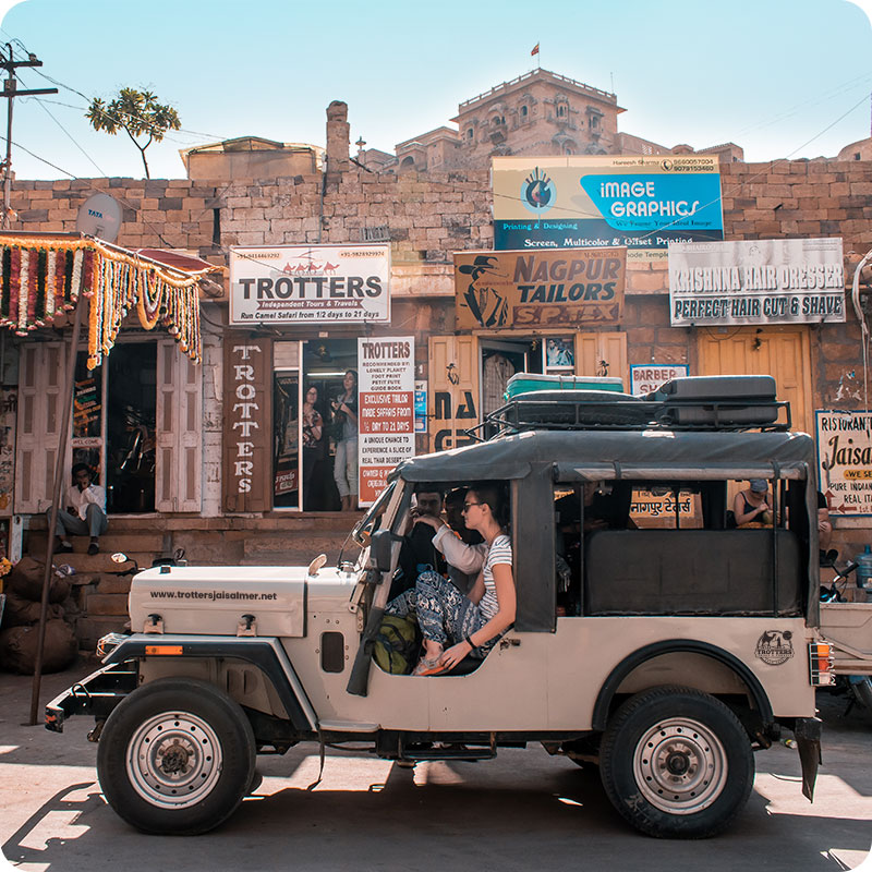
[[[488,546],[469,594],[461,594],[437,572],[422,572],[415,586],[386,609],[390,615],[417,614],[425,653],[412,675],[448,671],[469,654],[484,658],[514,622],[511,540],[504,526],[499,488],[485,484],[468,491],[463,513],[467,526],[477,530]]]

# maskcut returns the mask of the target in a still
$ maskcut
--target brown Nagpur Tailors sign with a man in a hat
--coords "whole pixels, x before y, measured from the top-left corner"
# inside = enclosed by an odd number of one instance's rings
[[[455,252],[457,327],[615,324],[626,271],[627,249]]]

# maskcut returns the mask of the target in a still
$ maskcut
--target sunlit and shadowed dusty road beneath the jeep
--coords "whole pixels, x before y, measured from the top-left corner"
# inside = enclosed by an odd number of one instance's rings
[[[44,699],[89,667],[46,676]],[[872,714],[845,717],[844,701],[826,695],[814,804],[800,794],[796,750],[778,746],[756,755],[751,800],[738,825],[713,840],[637,835],[613,811],[595,770],[537,747],[413,771],[330,752],[312,791],[317,750],[292,749],[259,759],[263,784],[223,827],[174,838],[141,835],[105,804],[86,739],[93,722],[73,718],[61,736],[22,726],[31,681],[0,674],[0,844],[20,870],[811,872],[855,869],[872,845]]]

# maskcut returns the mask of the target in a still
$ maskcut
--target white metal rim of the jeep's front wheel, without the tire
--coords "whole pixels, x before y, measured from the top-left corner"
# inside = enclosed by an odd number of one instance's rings
[[[187,712],[155,715],[128,743],[126,771],[133,789],[164,809],[184,809],[207,797],[221,764],[215,730]]]

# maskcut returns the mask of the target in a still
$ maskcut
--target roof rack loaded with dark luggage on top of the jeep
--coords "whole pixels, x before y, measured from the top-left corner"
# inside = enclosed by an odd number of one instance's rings
[[[784,413],[782,413],[784,410]],[[482,438],[532,429],[789,431],[790,403],[772,376],[674,378],[645,397],[598,390],[533,390],[468,431]]]

